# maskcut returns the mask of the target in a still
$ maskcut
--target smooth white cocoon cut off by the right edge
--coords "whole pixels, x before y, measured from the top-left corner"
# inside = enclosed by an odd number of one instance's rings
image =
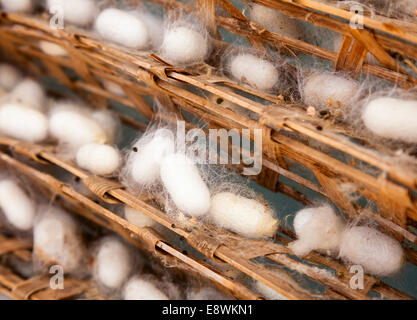
[[[417,101],[374,99],[365,106],[362,120],[366,128],[378,136],[417,142]]]

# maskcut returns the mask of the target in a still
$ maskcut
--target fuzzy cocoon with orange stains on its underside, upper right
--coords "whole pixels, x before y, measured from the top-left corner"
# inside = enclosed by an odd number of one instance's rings
[[[358,95],[360,85],[345,77],[315,73],[305,80],[302,87],[304,103],[309,106],[349,106]]]

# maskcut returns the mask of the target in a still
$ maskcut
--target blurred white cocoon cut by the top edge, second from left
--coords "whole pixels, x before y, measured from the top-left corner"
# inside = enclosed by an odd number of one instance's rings
[[[86,27],[97,15],[97,3],[94,0],[48,0],[51,13],[63,14],[65,22]]]

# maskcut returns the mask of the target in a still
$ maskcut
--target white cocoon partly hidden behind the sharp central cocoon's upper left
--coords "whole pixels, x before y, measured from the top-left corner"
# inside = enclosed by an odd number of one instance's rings
[[[133,147],[138,151],[131,152],[127,164],[132,179],[140,185],[151,185],[159,181],[162,159],[175,150],[172,133],[158,129],[149,142],[139,140]]]

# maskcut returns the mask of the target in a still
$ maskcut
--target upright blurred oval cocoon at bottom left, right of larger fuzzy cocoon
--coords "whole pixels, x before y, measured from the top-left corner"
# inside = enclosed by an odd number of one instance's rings
[[[96,272],[99,283],[109,289],[119,289],[131,271],[129,249],[116,238],[106,238],[97,253]]]

